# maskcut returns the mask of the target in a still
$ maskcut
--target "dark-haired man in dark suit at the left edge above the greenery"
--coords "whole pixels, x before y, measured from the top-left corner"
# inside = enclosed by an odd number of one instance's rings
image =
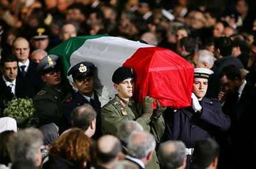
[[[1,60],[0,114],[11,99],[29,97],[29,88],[24,86],[21,78],[17,77],[17,62],[14,55],[5,56]]]

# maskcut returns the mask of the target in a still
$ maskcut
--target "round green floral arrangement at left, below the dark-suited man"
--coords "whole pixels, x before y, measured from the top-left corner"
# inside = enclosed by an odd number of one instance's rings
[[[17,125],[21,126],[31,119],[35,111],[32,99],[16,98],[9,101],[4,109],[4,116],[16,119]]]

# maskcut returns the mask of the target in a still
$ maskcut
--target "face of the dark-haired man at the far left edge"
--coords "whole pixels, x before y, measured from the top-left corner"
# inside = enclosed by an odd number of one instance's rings
[[[4,75],[7,81],[14,81],[17,77],[17,62],[4,63],[2,75]]]

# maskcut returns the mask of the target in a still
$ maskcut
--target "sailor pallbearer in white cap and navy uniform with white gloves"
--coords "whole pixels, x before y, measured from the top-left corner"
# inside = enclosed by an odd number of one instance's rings
[[[187,146],[187,154],[193,152],[195,141],[212,137],[220,130],[228,130],[230,118],[222,112],[217,99],[204,98],[209,75],[207,68],[194,69],[194,89],[192,105],[174,112],[172,139],[182,140]]]

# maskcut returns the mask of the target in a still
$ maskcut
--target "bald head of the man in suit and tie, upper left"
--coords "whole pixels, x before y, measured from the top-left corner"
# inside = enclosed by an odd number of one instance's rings
[[[12,43],[12,52],[22,63],[29,58],[29,50],[29,42],[24,37],[18,37]]]

